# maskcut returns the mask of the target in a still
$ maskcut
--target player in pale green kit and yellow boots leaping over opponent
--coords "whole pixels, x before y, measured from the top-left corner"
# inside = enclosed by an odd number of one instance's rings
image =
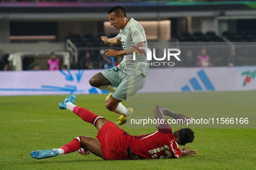
[[[146,52],[139,47],[147,47],[145,31],[133,18],[127,19],[125,10],[121,6],[114,6],[108,12],[110,25],[120,29],[120,33],[114,38],[100,37],[105,44],[122,44],[123,50],[105,50],[106,57],[124,56],[118,66],[107,69],[94,75],[89,83],[91,86],[110,91],[106,98],[108,110],[121,116],[117,125],[126,123],[126,119],[133,113],[132,108],[126,109],[121,101],[129,100],[146,84],[146,76],[149,75],[149,64],[139,65],[139,62],[149,63]],[[133,51],[140,50],[141,55],[136,55],[133,60]],[[118,88],[115,88],[117,87]]]

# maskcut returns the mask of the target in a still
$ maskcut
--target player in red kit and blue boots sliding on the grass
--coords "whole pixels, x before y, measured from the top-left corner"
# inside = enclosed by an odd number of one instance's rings
[[[97,139],[87,136],[79,136],[70,143],[59,149],[36,150],[31,152],[31,157],[43,159],[55,157],[60,154],[68,154],[80,148],[90,151],[105,160],[134,160],[134,159],[167,159],[179,158],[181,156],[194,156],[196,151],[188,150],[188,147],[179,149],[178,145],[185,145],[193,142],[194,132],[189,128],[179,129],[172,133],[171,126],[167,123],[164,116],[171,116],[175,120],[186,120],[189,117],[178,114],[171,110],[156,105],[154,113],[159,124],[156,132],[147,135],[129,135],[116,124],[106,120],[104,117],[97,116],[90,110],[78,107],[74,104],[76,96],[69,95],[62,103],[60,109],[68,109],[80,116],[88,123],[92,123],[98,132]]]

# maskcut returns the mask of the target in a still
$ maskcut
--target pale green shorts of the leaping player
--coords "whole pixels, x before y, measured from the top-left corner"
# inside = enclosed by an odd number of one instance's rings
[[[118,88],[112,93],[113,98],[120,101],[128,101],[133,95],[146,84],[146,76],[139,74],[129,76],[122,72],[117,66],[101,72],[114,87]]]

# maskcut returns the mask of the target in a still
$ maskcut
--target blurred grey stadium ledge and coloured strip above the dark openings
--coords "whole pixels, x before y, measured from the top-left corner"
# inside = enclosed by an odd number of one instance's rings
[[[104,17],[101,20],[106,20],[106,13],[113,6],[123,6],[126,9],[126,13],[133,14],[129,16],[144,19],[154,19],[156,17],[166,19],[183,16],[256,15],[256,1],[2,2],[0,3],[0,19],[100,20]]]

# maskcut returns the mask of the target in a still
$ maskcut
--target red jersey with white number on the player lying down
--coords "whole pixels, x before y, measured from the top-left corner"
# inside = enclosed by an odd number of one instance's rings
[[[163,124],[159,123],[156,128],[158,131],[148,135],[127,136],[126,141],[132,151],[147,159],[181,157],[181,151],[167,121],[165,120]]]

